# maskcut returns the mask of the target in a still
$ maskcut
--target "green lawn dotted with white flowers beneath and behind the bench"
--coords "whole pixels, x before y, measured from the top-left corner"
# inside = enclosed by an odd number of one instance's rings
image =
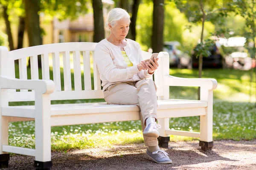
[[[170,69],[170,74],[188,78],[194,78],[198,75],[197,71],[187,69]],[[52,70],[50,70],[50,75],[52,79]],[[16,77],[18,77],[17,73]],[[41,77],[41,70],[39,77]],[[73,79],[73,73],[71,77]],[[255,79],[253,79],[253,83],[250,84],[250,72],[209,69],[204,70],[203,77],[215,78],[218,81],[218,88],[214,91],[213,139],[256,139],[256,108],[253,103],[256,101],[256,83]],[[29,68],[28,79],[30,79]],[[61,70],[61,79],[63,82],[63,70]],[[250,86],[253,88],[252,91],[250,91]],[[197,88],[170,87],[170,97],[176,99],[197,99]],[[76,102],[104,102],[104,99],[52,101],[52,104]],[[34,102],[10,102],[9,105],[34,105]],[[199,116],[172,118],[170,119],[170,128],[199,132]],[[10,145],[34,148],[34,134],[34,121],[9,123]],[[171,136],[171,141],[180,140],[198,139]],[[52,150],[81,149],[98,146],[111,147],[113,144],[141,142],[143,142],[143,136],[140,121],[52,127]]]

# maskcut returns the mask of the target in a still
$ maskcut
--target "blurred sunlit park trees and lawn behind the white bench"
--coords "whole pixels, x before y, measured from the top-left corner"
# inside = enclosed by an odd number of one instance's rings
[[[139,42],[145,51],[150,48],[153,52],[163,51],[164,42],[177,41],[180,51],[190,57],[196,51],[198,58],[204,60],[209,55],[209,44],[219,38],[228,41],[230,37],[244,37],[246,41],[235,47],[221,45],[223,57],[240,51],[252,61],[255,59],[256,0],[0,0],[0,45],[14,50],[58,42],[99,42],[109,34],[106,17],[114,7],[125,8],[131,14],[128,38]],[[18,71],[18,65],[15,67]],[[52,68],[50,75],[52,79]],[[249,70],[170,68],[170,75],[218,81],[213,96],[214,140],[256,139],[255,67]],[[30,77],[28,67],[28,79]],[[198,91],[192,87],[171,87],[170,98],[198,99]],[[104,99],[52,101],[52,104],[75,102],[104,102]],[[170,128],[198,132],[199,116],[172,118]],[[34,148],[34,133],[33,121],[9,123],[9,144]],[[175,142],[198,140],[180,136],[170,139]],[[52,150],[64,152],[142,142],[139,121],[52,127]]]

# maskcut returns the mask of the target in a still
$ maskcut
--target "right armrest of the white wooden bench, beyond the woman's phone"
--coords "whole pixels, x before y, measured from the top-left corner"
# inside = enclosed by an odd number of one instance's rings
[[[208,90],[214,90],[218,85],[215,79],[180,78],[169,75],[164,76],[164,81],[169,86],[204,87]]]

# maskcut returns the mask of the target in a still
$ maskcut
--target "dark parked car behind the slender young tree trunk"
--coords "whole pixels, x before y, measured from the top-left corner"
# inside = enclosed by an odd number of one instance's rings
[[[225,59],[223,51],[220,47],[220,45],[212,45],[210,49],[210,56],[203,58],[203,68],[223,68],[225,65]],[[195,53],[192,53],[192,67],[198,68],[198,59],[196,58]]]

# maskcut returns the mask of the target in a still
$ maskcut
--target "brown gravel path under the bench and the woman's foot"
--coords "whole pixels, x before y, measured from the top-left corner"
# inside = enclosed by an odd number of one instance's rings
[[[215,141],[207,152],[198,143],[169,142],[173,164],[166,165],[150,161],[144,144],[52,152],[52,170],[256,170],[256,140]],[[33,170],[33,164],[34,157],[15,155],[3,170]]]

